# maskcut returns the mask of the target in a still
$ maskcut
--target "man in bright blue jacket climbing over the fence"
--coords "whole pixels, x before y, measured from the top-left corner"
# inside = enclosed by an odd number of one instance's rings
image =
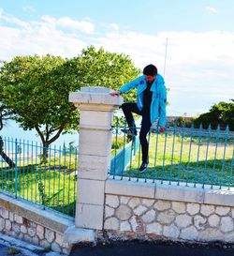
[[[124,130],[124,132],[127,133],[128,136],[134,138],[138,132],[132,113],[137,113],[142,116],[139,131],[142,163],[139,167],[139,172],[143,173],[149,164],[149,143],[146,138],[147,133],[157,119],[160,131],[165,131],[167,90],[163,77],[157,73],[157,68],[153,64],[143,68],[142,76],[124,84],[119,91],[111,92],[110,95],[119,97],[133,88],[137,88],[137,103],[124,103],[122,105],[122,110],[128,125],[128,129]]]

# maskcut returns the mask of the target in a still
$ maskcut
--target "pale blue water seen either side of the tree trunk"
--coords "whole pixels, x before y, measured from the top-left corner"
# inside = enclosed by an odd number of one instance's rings
[[[39,136],[37,135],[37,130],[23,130],[19,127],[19,125],[12,120],[8,120],[4,125],[4,128],[0,130],[0,136],[3,138],[13,138],[17,140],[25,140],[29,142],[37,142],[41,143]],[[54,142],[51,143],[51,146],[56,145],[56,147],[63,147],[64,144],[66,147],[72,143],[74,146],[77,146],[79,143],[79,133],[78,131],[73,131],[73,134],[64,134],[60,135],[60,137]]]

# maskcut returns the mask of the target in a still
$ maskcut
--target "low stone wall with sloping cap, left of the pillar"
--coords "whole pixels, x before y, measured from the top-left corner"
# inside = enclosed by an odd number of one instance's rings
[[[0,196],[0,233],[69,254],[72,245],[64,242],[64,235],[72,225],[74,220],[54,211],[4,194]]]

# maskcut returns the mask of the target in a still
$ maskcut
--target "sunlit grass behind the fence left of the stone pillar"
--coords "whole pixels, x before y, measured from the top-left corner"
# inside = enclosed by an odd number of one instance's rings
[[[16,169],[0,168],[0,189],[66,215],[75,216],[77,158],[54,158],[51,164],[38,159],[18,161]],[[17,179],[16,179],[17,177]]]

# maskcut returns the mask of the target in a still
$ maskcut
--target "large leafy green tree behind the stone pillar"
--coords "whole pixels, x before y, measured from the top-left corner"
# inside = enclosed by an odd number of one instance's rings
[[[18,56],[0,68],[0,95],[5,110],[23,129],[37,130],[45,157],[62,132],[79,124],[76,108],[68,102],[69,92],[94,85],[117,89],[138,75],[139,68],[129,56],[96,51],[93,46],[72,59]]]

